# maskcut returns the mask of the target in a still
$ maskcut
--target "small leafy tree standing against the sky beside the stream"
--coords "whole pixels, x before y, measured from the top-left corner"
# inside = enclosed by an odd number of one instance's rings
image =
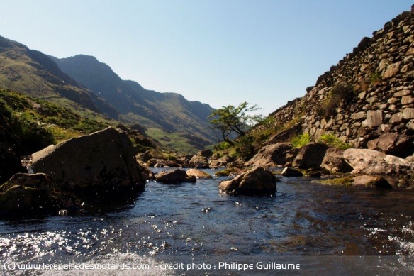
[[[209,122],[213,124],[213,129],[220,133],[222,140],[234,145],[230,136],[233,133],[237,133],[240,137],[245,136],[250,126],[261,118],[261,116],[248,113],[258,109],[256,105],[248,106],[247,102],[244,102],[237,107],[223,106],[223,108],[213,111],[207,118],[213,118]]]

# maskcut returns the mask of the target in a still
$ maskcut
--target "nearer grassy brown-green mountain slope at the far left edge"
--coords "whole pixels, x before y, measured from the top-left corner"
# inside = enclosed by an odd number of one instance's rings
[[[118,111],[63,73],[50,57],[1,36],[0,87],[118,119]]]

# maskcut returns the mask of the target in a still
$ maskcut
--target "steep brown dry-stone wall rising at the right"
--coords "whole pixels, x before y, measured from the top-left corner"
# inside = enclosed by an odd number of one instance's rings
[[[270,114],[284,129],[267,145],[331,133],[356,148],[407,157],[414,152],[414,11],[363,38],[307,94]],[[290,129],[283,126],[292,126]]]

